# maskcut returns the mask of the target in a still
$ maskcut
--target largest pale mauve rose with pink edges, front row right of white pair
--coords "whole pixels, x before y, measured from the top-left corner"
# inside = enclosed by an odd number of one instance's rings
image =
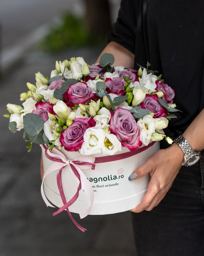
[[[129,150],[140,148],[139,129],[133,115],[124,108],[117,108],[114,115],[111,112],[110,127],[112,133],[116,134],[119,141]]]

